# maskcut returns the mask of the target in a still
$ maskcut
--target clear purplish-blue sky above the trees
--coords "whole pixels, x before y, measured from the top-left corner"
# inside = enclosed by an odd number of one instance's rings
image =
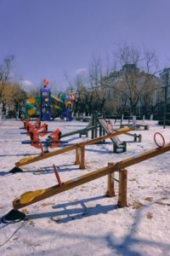
[[[169,0],[0,0],[0,63],[14,55],[20,79],[61,88],[64,73],[73,78],[126,41],[169,67],[169,26]]]

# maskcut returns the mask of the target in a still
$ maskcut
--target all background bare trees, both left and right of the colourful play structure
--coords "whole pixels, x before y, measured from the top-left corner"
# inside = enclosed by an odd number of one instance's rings
[[[40,90],[35,87],[30,94],[22,89],[19,83],[12,82],[14,56],[9,56],[0,66],[0,108],[5,114],[7,106],[14,106],[18,112],[28,96],[39,96]],[[118,45],[114,61],[109,56],[102,59],[93,56],[87,73],[80,73],[65,92],[53,86],[54,94],[75,92],[74,112],[86,115],[99,113],[130,115],[154,114],[163,102],[163,90],[160,79],[156,76],[158,58],[155,51]]]

